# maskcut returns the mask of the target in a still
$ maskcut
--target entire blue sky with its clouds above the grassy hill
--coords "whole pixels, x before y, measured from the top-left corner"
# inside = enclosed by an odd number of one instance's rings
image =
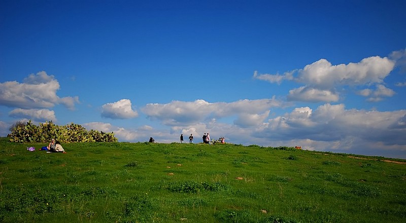
[[[0,135],[18,120],[119,141],[406,159],[404,1],[1,1]]]

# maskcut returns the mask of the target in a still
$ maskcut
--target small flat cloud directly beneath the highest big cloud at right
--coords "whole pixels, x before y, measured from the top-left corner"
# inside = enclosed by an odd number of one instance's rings
[[[310,86],[302,86],[290,90],[287,98],[291,101],[334,102],[338,101],[340,96],[331,90],[320,90]]]

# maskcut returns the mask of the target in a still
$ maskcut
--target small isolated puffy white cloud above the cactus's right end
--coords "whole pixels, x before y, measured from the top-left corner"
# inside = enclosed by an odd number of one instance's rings
[[[114,103],[101,106],[101,116],[111,119],[132,119],[138,117],[136,110],[132,109],[129,99],[121,99]]]

